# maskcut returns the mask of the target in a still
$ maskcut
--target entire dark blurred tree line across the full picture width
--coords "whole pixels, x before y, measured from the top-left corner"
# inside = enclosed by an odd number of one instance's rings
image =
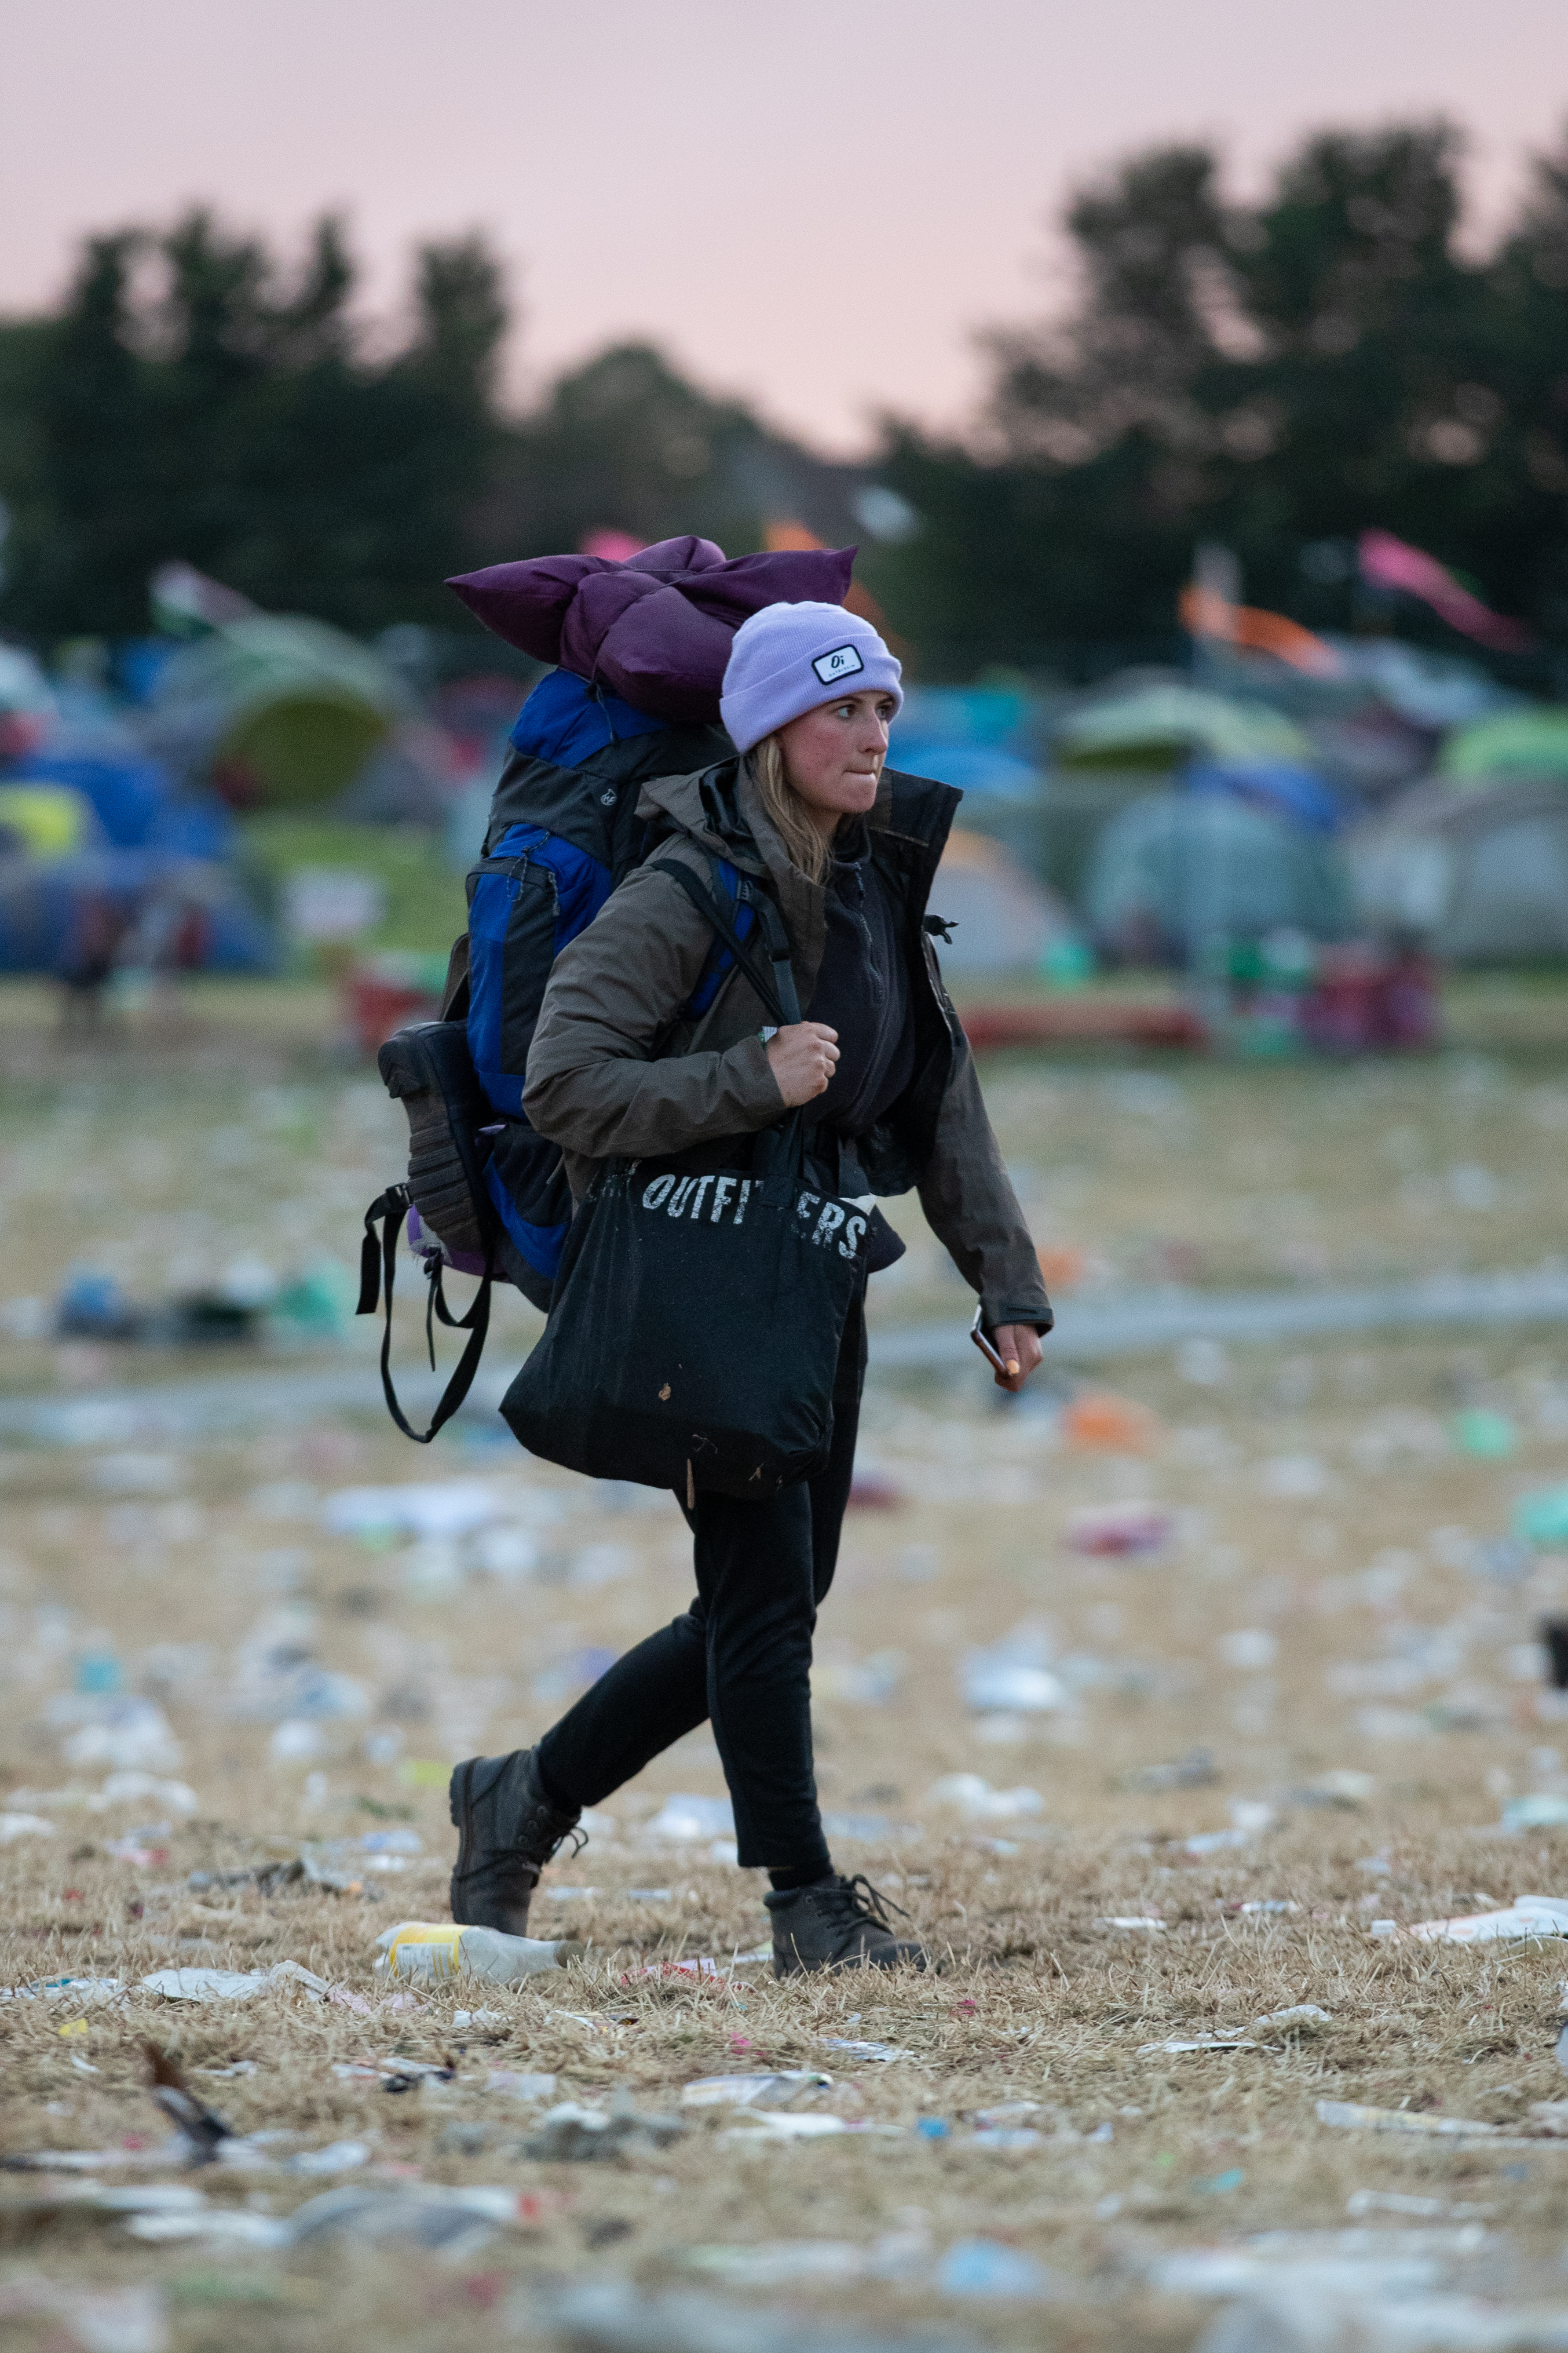
[[[1204,539],[1237,551],[1251,602],[1356,626],[1354,539],[1380,525],[1563,652],[1568,146],[1490,252],[1460,212],[1446,125],[1314,136],[1251,205],[1208,148],[1135,155],[1067,209],[1070,315],[987,339],[973,431],[889,416],[863,468],[646,346],[508,416],[503,278],[477,238],[416,254],[390,353],[353,318],[334,221],[294,278],[200,212],[96,238],[56,315],[0,325],[0,621],[136,633],[179,555],[355,631],[461,626],[440,581],[468,565],[604,527],[741,553],[792,520],[865,544],[924,675],[1081,675],[1175,649]],[[867,501],[872,482],[898,499]]]

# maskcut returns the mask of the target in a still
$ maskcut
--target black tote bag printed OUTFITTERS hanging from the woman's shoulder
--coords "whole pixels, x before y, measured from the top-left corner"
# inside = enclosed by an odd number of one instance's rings
[[[703,911],[773,1019],[799,1021],[783,922],[743,882],[773,986],[696,875]],[[576,1214],[550,1320],[501,1405],[520,1442],[590,1478],[769,1497],[832,1442],[832,1379],[870,1207],[809,1184],[799,1111],[750,1167],[689,1174],[607,1160]]]

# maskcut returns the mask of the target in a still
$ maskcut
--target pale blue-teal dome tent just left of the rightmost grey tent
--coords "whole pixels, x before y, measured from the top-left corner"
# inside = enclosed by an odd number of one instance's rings
[[[1352,901],[1321,833],[1220,793],[1150,793],[1100,835],[1086,915],[1112,955],[1150,962],[1218,934],[1338,939]]]

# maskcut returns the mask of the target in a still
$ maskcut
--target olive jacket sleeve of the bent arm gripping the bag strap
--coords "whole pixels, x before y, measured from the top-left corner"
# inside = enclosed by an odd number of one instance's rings
[[[785,1106],[759,1038],[654,1059],[710,944],[684,892],[642,868],[562,948],[522,1094],[541,1136],[588,1160],[639,1160],[773,1125]]]

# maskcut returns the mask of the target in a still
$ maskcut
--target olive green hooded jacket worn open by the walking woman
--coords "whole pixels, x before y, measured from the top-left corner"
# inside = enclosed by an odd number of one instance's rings
[[[870,854],[900,911],[917,1052],[910,1085],[870,1136],[856,1139],[856,1155],[875,1193],[919,1188],[933,1233],[980,1297],[987,1329],[1027,1322],[1048,1332],[1039,1259],[926,929],[926,894],[957,802],[945,784],[884,769],[867,814]],[[755,1134],[785,1108],[757,1035],[769,1012],[741,969],[726,974],[698,1019],[686,1014],[712,929],[658,861],[679,859],[710,894],[719,892],[712,859],[766,885],[802,1005],[811,1002],[827,936],[825,889],[790,864],[741,760],[656,779],[637,814],[656,847],[562,948],[529,1047],[522,1108],[562,1146],[578,1200],[597,1160],[646,1160]]]

